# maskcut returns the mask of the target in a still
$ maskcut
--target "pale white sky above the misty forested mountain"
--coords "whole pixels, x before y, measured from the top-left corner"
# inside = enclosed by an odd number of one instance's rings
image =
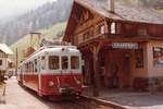
[[[16,15],[52,1],[57,0],[0,0],[0,19]]]

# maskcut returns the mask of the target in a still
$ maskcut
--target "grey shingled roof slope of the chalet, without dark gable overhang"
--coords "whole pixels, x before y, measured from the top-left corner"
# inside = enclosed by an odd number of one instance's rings
[[[75,0],[75,2],[113,20],[163,24],[163,14],[152,8],[115,2],[115,13],[112,13],[108,0]]]

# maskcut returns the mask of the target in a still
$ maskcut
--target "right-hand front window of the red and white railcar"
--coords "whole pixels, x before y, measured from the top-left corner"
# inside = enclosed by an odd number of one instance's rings
[[[77,70],[79,69],[79,58],[76,56],[71,57],[71,69]]]

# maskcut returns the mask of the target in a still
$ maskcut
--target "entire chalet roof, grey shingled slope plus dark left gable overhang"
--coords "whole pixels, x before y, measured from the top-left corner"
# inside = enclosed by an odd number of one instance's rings
[[[163,26],[163,14],[152,8],[115,2],[115,12],[113,13],[109,10],[108,0],[74,0],[63,40],[70,41],[72,39],[70,37],[79,22],[83,9],[98,13],[109,20]]]

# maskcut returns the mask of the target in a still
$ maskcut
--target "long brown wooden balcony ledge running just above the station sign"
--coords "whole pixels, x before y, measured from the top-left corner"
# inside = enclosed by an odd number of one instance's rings
[[[78,41],[76,46],[85,46],[88,44],[95,44],[103,41],[104,44],[110,43],[148,43],[150,40],[163,40],[163,37],[152,37],[152,36],[123,36],[123,35],[111,35],[111,34],[99,34],[93,37],[89,37],[85,40]]]

